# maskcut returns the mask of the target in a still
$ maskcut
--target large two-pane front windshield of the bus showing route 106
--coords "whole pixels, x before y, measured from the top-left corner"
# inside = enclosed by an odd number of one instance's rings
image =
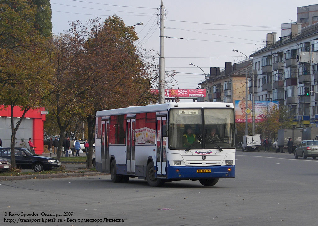
[[[235,148],[234,110],[171,109],[169,149]]]

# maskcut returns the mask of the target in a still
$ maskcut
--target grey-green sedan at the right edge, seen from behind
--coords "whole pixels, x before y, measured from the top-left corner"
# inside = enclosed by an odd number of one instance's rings
[[[295,159],[302,156],[303,159],[318,157],[318,140],[302,140],[294,152]]]

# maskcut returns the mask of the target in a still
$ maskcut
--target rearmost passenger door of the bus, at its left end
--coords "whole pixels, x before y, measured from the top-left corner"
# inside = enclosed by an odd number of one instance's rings
[[[102,172],[110,172],[109,148],[108,148],[109,121],[102,121],[101,137],[101,168]]]

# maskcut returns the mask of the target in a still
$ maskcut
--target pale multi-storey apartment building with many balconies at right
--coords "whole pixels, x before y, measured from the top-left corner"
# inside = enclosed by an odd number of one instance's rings
[[[305,19],[307,18],[307,19]],[[282,24],[282,37],[267,34],[266,47],[253,53],[256,100],[278,100],[296,115],[297,127],[318,127],[318,5],[297,7],[297,22]]]

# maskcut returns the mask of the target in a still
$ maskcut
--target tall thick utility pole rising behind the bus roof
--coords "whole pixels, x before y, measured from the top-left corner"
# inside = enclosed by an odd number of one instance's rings
[[[164,104],[164,6],[162,0],[159,23],[159,104]]]

